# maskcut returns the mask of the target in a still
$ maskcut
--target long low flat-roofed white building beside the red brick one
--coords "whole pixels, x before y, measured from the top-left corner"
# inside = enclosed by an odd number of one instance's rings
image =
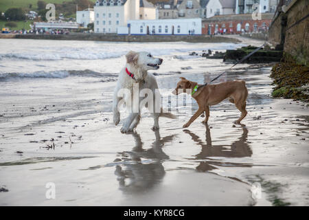
[[[189,33],[202,34],[202,19],[130,20],[128,27],[119,28],[118,32],[118,34],[131,35],[187,35]]]

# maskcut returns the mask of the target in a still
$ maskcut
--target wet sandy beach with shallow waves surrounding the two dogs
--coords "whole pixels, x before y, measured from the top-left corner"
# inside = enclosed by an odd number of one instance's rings
[[[271,97],[269,64],[229,69],[189,56],[263,43],[0,39],[0,205],[308,206],[308,105]],[[233,124],[240,112],[225,100],[207,125],[198,118],[183,129],[192,100],[176,119],[160,118],[159,131],[145,112],[135,133],[120,133],[126,113],[115,126],[112,94],[129,50],[163,58],[150,72],[163,99],[180,76],[202,84],[229,69],[214,83],[246,82],[244,125]]]

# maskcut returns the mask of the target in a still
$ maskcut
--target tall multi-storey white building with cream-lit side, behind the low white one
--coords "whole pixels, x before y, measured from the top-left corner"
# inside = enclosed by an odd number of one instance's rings
[[[146,0],[98,0],[93,8],[96,33],[117,33],[118,28],[126,26],[128,20],[156,19],[155,7],[151,8]]]

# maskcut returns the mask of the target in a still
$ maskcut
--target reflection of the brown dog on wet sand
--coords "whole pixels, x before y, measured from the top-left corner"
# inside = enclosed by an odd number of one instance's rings
[[[228,150],[227,145],[213,145],[211,143],[211,134],[209,126],[206,124],[206,144],[198,137],[198,135],[192,133],[191,131],[185,129],[185,133],[192,137],[192,140],[202,147],[201,153],[196,155],[195,159],[209,159],[209,157],[251,157],[252,150],[247,143],[248,129],[246,126],[242,125],[242,136],[236,141],[231,143],[231,150]],[[226,163],[220,162],[218,160],[201,162],[196,170],[199,171],[210,171],[216,169],[215,166],[251,166],[250,164],[236,164],[236,163]]]

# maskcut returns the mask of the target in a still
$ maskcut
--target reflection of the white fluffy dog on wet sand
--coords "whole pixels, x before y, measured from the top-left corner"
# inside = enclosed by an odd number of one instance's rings
[[[162,147],[171,142],[175,135],[161,138],[159,131],[154,131],[156,140],[152,148],[144,149],[141,136],[133,133],[135,147],[132,151],[122,152],[124,164],[116,166],[115,175],[119,181],[119,188],[127,193],[143,193],[159,184],[165,175],[162,165],[164,159],[169,159]],[[146,162],[142,162],[142,159]]]

